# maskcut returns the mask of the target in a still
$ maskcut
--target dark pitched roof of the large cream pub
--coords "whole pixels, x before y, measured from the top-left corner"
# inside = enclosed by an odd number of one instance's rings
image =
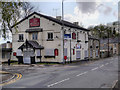
[[[36,14],[36,15],[38,15],[38,16],[40,16],[40,17],[44,17],[44,18],[46,18],[46,19],[49,19],[49,20],[51,20],[51,21],[53,21],[53,22],[56,22],[56,23],[58,23],[58,24],[60,24],[60,25],[63,25],[63,24],[64,24],[65,26],[68,26],[68,27],[71,27],[71,28],[76,28],[76,29],[81,29],[81,30],[84,30],[84,31],[89,31],[88,29],[82,28],[82,27],[80,27],[80,26],[78,26],[78,25],[75,25],[75,24],[73,24],[73,23],[71,23],[71,22],[68,22],[68,21],[65,21],[65,20],[58,20],[58,19],[53,18],[53,17],[51,17],[51,16],[46,16],[46,15],[43,15],[43,14],[40,14],[40,13],[37,13],[37,12],[33,12],[32,14],[28,15],[27,17],[25,17],[24,19],[22,19],[22,20],[19,21],[18,23],[14,24],[11,28],[13,28],[14,26],[16,26],[16,25],[18,25],[19,23],[23,22],[24,20],[28,19],[30,16],[32,16],[32,15],[34,15],[34,14]]]

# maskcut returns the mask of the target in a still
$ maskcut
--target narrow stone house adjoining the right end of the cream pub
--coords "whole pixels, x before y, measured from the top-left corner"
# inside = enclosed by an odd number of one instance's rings
[[[88,37],[88,52],[90,60],[100,58],[100,41],[91,35]]]

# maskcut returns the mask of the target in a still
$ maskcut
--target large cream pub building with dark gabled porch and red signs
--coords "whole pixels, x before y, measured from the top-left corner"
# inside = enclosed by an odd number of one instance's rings
[[[88,58],[88,32],[77,22],[33,12],[12,26],[11,59],[25,64],[85,60]]]

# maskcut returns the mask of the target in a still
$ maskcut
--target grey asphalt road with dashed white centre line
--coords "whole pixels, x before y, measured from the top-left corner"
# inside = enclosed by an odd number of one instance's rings
[[[3,88],[111,88],[118,80],[118,57],[51,67],[3,67],[22,78]]]

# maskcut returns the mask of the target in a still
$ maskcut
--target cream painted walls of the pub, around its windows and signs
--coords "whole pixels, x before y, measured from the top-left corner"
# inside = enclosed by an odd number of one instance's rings
[[[62,46],[62,30],[61,30],[61,25],[52,22],[48,19],[45,19],[43,17],[37,16],[37,15],[33,15],[37,18],[40,18],[40,28],[43,28],[43,32],[39,32],[38,33],[38,40],[37,42],[44,46],[44,49],[41,51],[41,55],[42,55],[42,61],[45,62],[62,62],[63,61],[63,46]],[[18,28],[17,30],[15,30],[14,28],[12,29],[13,33],[13,37],[12,37],[12,42],[13,42],[13,52],[16,52],[17,49],[25,42],[26,39],[28,40],[32,40],[32,35],[29,33],[25,33],[26,29],[29,29],[29,19],[33,18],[33,16],[29,17],[28,19],[26,19],[25,21],[23,21],[22,23],[18,24]],[[53,25],[53,23],[55,25]],[[35,28],[35,27],[31,27],[31,28]],[[38,27],[36,27],[38,28]],[[69,27],[65,27],[66,29],[66,33],[70,33],[70,31],[68,31]],[[76,31],[75,31],[76,30]],[[80,32],[82,31],[82,32]],[[53,32],[53,37],[54,37],[54,41],[47,41],[47,33],[48,32]],[[81,40],[80,44],[82,45],[82,48],[79,49],[79,51],[81,51],[81,60],[84,59],[84,51],[88,50],[88,43],[85,43],[85,33],[86,33],[86,40],[88,40],[88,34],[86,31],[83,30],[77,30],[74,28],[71,28],[71,35],[72,32],[76,32],[76,38],[77,38],[77,32],[79,33],[79,40]],[[18,42],[18,34],[24,34],[24,42]],[[56,36],[58,38],[56,38]],[[72,55],[72,60],[76,60],[76,44],[77,44],[77,39],[76,40],[71,40],[71,48],[75,49],[75,55],[73,55],[73,50],[71,49],[71,55]],[[48,48],[57,48],[59,50],[59,56],[57,56],[56,58],[44,58],[45,56],[45,50]],[[68,61],[70,60],[70,41],[67,41],[67,45],[65,46],[65,48],[67,48],[68,51]],[[12,54],[12,59],[17,59],[16,57],[13,56]]]

